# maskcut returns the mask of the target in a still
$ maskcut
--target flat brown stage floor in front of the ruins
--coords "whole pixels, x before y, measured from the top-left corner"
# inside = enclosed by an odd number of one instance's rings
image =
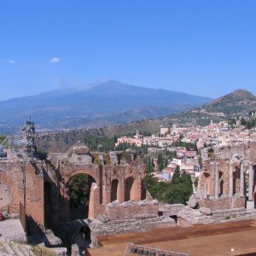
[[[124,255],[129,242],[189,255],[256,255],[256,220],[181,228],[153,229],[148,232],[100,236],[102,247],[88,255]],[[234,251],[231,249],[234,248]],[[255,253],[255,254],[254,254]],[[127,254],[136,255],[136,254]]]

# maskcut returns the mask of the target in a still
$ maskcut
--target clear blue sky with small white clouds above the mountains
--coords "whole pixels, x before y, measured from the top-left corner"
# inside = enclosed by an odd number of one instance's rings
[[[99,79],[256,94],[256,1],[0,1],[0,100]]]

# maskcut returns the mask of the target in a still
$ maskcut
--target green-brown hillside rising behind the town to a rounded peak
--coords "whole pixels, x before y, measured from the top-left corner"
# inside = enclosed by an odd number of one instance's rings
[[[208,125],[211,119],[217,122],[238,115],[247,115],[250,110],[256,109],[255,98],[247,90],[236,90],[203,105],[201,108],[172,114],[162,119],[143,119],[127,125],[113,125],[101,129],[40,134],[36,139],[36,144],[39,148],[44,148],[51,152],[65,152],[67,148],[78,140],[83,140],[84,137],[88,136],[123,136],[128,133],[135,133],[137,130],[157,132],[160,130],[160,125],[172,125],[173,123],[186,124],[196,122],[199,125]]]

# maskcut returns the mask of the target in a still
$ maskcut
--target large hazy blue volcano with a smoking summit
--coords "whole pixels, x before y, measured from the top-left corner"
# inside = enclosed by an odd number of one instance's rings
[[[52,90],[0,102],[0,131],[11,124],[22,125],[29,116],[41,129],[98,127],[179,113],[209,101],[107,80],[85,89]]]

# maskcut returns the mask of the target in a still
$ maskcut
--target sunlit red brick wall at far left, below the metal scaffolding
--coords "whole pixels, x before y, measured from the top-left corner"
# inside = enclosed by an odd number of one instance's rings
[[[0,183],[9,194],[8,197],[4,195],[6,198],[0,210],[20,212],[21,202],[26,206],[26,217],[44,230],[44,176],[39,171],[40,165],[41,161],[0,161]]]

